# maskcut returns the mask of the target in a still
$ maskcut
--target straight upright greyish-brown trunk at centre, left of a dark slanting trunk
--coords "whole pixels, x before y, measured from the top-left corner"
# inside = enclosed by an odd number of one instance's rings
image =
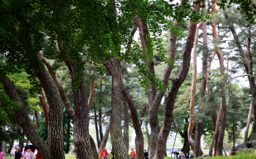
[[[127,150],[121,134],[121,64],[116,58],[111,60],[112,97],[111,97],[111,143],[116,158],[127,158]]]

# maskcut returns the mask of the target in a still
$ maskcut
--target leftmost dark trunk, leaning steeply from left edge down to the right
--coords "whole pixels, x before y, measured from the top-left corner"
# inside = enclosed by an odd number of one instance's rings
[[[49,147],[47,144],[45,144],[45,141],[43,141],[42,138],[37,134],[37,131],[34,130],[33,125],[31,125],[31,119],[27,115],[26,109],[23,107],[23,101],[20,98],[20,95],[18,94],[15,86],[12,85],[10,79],[2,72],[0,73],[0,81],[3,83],[4,90],[10,99],[20,105],[20,108],[14,109],[14,112],[18,118],[20,127],[23,128],[23,131],[26,134],[26,137],[29,139],[29,141],[31,141],[39,153],[42,154],[42,158],[50,158]]]

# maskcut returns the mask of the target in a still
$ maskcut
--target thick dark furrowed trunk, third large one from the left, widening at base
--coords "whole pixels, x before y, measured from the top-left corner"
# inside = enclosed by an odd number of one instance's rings
[[[60,39],[58,40],[60,50],[63,49]],[[80,57],[79,57],[80,58]],[[75,70],[75,62],[65,60],[72,79],[72,90],[74,94],[75,121],[74,121],[74,144],[78,159],[94,158],[89,135],[89,106],[86,93],[86,82],[83,72]],[[79,85],[75,85],[78,83]],[[94,145],[92,145],[94,146]]]

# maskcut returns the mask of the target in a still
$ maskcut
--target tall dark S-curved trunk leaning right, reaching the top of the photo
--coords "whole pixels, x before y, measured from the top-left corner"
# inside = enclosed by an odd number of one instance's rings
[[[199,12],[199,5],[196,5],[194,10]],[[159,132],[158,140],[157,140],[157,150],[154,155],[154,159],[163,159],[164,158],[164,149],[162,149],[163,145],[166,144],[167,137],[170,133],[171,123],[173,120],[173,107],[175,103],[175,99],[178,93],[178,89],[181,87],[181,84],[184,82],[187,77],[187,73],[189,71],[190,60],[191,60],[191,51],[195,41],[195,31],[197,28],[197,23],[189,23],[189,32],[187,37],[187,42],[184,46],[183,53],[183,63],[180,71],[176,77],[173,78],[172,84],[170,86],[170,90],[167,96],[167,104],[165,106],[165,119],[162,125],[161,131]],[[173,46],[170,46],[173,47]]]

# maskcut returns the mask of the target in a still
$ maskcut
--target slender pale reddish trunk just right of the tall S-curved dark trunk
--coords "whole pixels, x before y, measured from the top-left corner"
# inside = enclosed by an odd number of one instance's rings
[[[193,128],[194,128],[194,106],[195,106],[195,90],[196,90],[196,78],[197,78],[197,55],[196,55],[196,50],[197,50],[197,44],[198,44],[198,31],[199,28],[202,26],[203,22],[197,25],[197,29],[195,31],[195,43],[194,47],[192,50],[192,55],[193,55],[193,73],[192,73],[192,85],[191,85],[191,98],[190,98],[190,104],[189,104],[189,115],[190,115],[190,120],[189,120],[189,128],[188,128],[188,139],[189,139],[189,144],[192,147],[193,152],[195,153],[195,156],[200,156],[200,145],[197,145],[195,141],[192,138],[192,133],[193,133]]]

